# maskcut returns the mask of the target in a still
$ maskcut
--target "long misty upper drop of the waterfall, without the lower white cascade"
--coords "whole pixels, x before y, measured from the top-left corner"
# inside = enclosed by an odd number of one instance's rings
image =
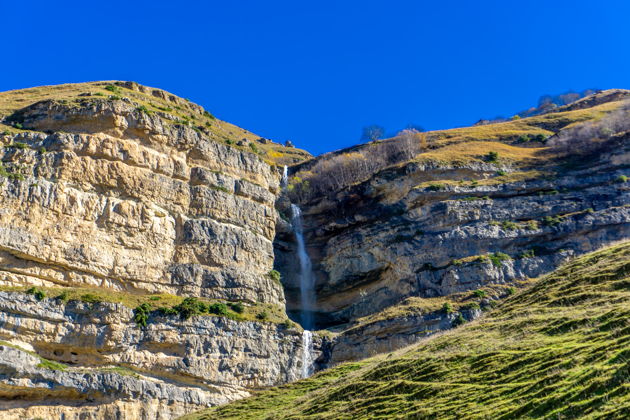
[[[300,263],[300,305],[302,313],[300,315],[302,327],[305,330],[313,328],[313,310],[315,309],[315,291],[313,290],[313,271],[311,259],[306,252],[304,243],[304,228],[302,226],[302,213],[300,208],[291,204],[292,225],[297,242],[297,255]]]

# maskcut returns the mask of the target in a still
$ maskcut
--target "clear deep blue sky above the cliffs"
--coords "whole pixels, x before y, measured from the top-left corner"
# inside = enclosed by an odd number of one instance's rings
[[[134,80],[319,154],[629,88],[630,2],[0,0],[0,90]]]

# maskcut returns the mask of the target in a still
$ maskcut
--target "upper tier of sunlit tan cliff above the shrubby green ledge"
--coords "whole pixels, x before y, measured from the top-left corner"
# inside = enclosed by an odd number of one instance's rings
[[[124,101],[47,101],[16,118],[55,133],[3,149],[20,179],[0,185],[2,284],[283,302],[265,276],[278,176],[256,155]]]

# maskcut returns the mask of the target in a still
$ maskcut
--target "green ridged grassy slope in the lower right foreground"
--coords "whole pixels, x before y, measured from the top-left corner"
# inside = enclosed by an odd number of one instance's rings
[[[483,318],[191,419],[622,419],[630,242],[575,259]]]

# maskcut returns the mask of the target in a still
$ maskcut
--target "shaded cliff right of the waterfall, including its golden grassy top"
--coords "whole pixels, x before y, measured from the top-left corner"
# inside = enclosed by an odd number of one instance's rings
[[[529,279],[627,239],[628,97],[604,91],[532,118],[403,132],[295,166],[289,196],[304,217],[315,316],[337,333],[329,362],[449,329]],[[297,311],[289,229],[278,229],[275,249]]]

